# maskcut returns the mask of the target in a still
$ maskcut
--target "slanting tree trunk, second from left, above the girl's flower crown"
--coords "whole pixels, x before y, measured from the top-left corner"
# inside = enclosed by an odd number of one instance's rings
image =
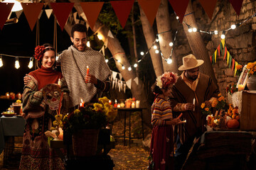
[[[150,49],[151,45],[154,43],[154,40],[156,40],[154,30],[150,26],[149,21],[147,20],[145,13],[140,6],[139,6],[139,11],[141,15],[144,37],[146,38],[146,45]],[[163,63],[161,61],[161,55],[156,54],[153,48],[149,50],[149,54],[151,56],[151,61],[154,67],[154,72],[156,74],[156,77],[159,77],[161,74],[164,73]]]

